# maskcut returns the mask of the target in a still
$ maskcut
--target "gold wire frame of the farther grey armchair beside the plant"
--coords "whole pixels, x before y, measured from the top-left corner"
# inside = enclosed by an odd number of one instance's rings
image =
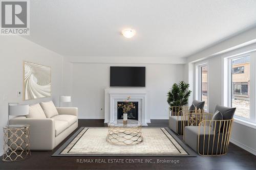
[[[189,114],[203,114],[204,113],[204,109],[195,109],[195,110],[189,110],[189,106],[172,106],[171,109],[169,109],[169,117],[170,116],[177,116],[177,123],[176,123],[176,134],[181,135],[178,133],[178,126],[179,126],[179,116],[181,117],[181,127],[183,126],[183,134],[184,134],[184,127],[186,126],[186,121],[184,120],[189,120],[189,119],[185,119],[186,117],[184,117],[184,115],[189,115]],[[172,111],[172,115],[170,115],[170,111]],[[177,112],[178,111],[178,112]],[[188,121],[189,122],[189,121]],[[169,120],[169,124],[170,124],[170,120]],[[182,128],[181,128],[182,129]],[[182,135],[181,135],[182,136]]]

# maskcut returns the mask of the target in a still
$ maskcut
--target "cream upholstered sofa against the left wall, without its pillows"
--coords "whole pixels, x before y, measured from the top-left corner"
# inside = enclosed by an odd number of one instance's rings
[[[10,119],[10,124],[30,125],[30,149],[53,150],[63,139],[78,127],[78,109],[61,107],[57,115],[51,118],[27,118],[17,116]]]

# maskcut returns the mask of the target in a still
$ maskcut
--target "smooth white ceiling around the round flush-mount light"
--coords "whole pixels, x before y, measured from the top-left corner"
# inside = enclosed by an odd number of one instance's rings
[[[63,56],[187,57],[256,23],[255,0],[40,0],[30,11],[25,38]]]

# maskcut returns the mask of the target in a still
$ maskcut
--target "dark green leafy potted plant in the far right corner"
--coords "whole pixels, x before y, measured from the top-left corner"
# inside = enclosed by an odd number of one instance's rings
[[[182,106],[186,106],[188,104],[188,97],[192,92],[191,90],[188,90],[188,87],[189,84],[184,81],[181,81],[178,84],[173,84],[173,87],[167,92],[169,110],[173,106],[179,106],[179,110],[181,110]]]

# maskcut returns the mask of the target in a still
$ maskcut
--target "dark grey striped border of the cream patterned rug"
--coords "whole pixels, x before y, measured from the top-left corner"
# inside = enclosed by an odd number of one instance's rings
[[[183,148],[187,155],[161,155],[161,154],[61,154],[68,145],[76,138],[76,136],[84,129],[90,127],[79,128],[64,144],[57,149],[57,151],[52,155],[53,157],[197,157],[197,154],[191,150],[185,143],[183,143],[169,128],[166,127],[154,127],[154,128],[164,128]],[[102,127],[93,127],[102,128]],[[153,127],[143,127],[143,128],[153,128]],[[176,146],[175,146],[176,147]]]

